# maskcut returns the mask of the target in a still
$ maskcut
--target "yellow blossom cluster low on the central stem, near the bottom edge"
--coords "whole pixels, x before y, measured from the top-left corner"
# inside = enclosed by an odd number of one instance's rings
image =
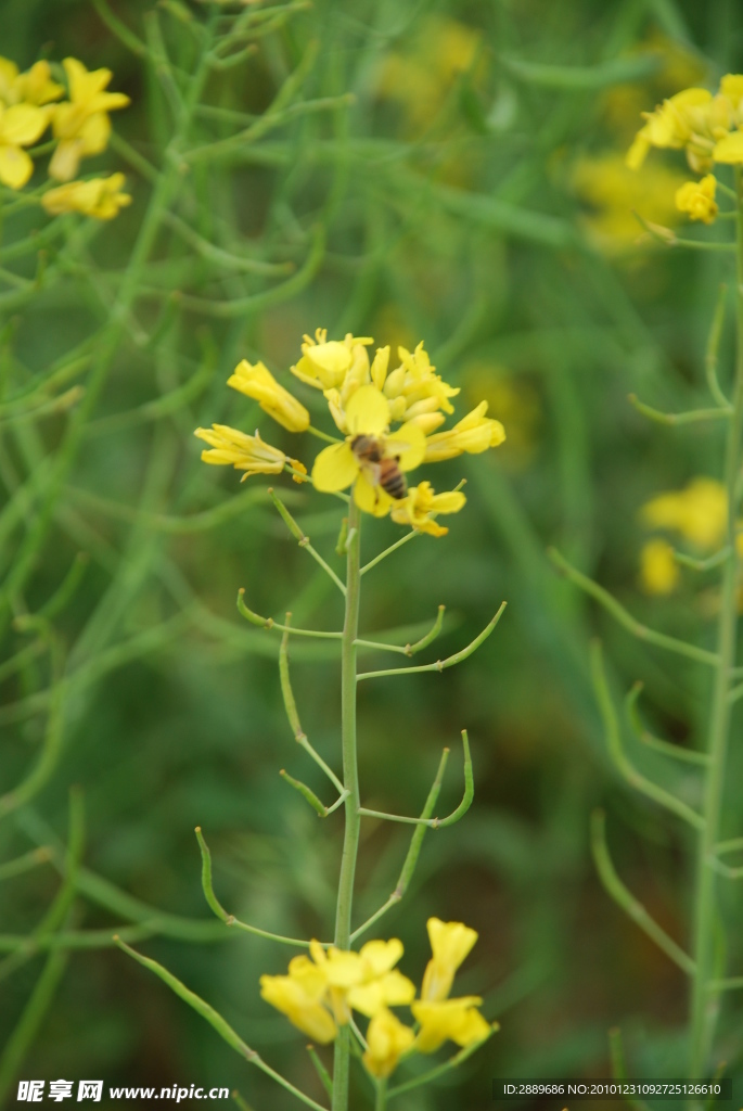
[[[294,957],[287,975],[261,977],[261,995],[322,1044],[337,1038],[352,1011],[365,1015],[370,1022],[363,1061],[378,1078],[389,1077],[403,1054],[435,1053],[448,1040],[461,1047],[483,1041],[494,1028],[478,1010],[480,997],[449,998],[476,932],[438,918],[429,919],[428,931],[433,955],[419,999],[412,980],[395,969],[403,952],[396,938],[369,941],[358,953],[332,947],[325,952],[312,941],[310,957]],[[410,1007],[418,1030],[401,1022],[392,1007]]]

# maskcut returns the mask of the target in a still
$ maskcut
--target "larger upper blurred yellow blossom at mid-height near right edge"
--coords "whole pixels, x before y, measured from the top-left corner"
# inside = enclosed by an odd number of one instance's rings
[[[714,479],[693,479],[685,490],[651,498],[641,517],[649,528],[677,532],[701,551],[714,551],[725,534],[727,494]]]

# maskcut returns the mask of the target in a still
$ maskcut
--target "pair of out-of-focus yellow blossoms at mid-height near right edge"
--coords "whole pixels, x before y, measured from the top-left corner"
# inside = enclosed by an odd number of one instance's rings
[[[646,502],[641,520],[650,529],[676,533],[700,556],[714,553],[724,541],[727,494],[714,479],[692,479],[684,490],[669,490]],[[743,541],[743,538],[741,538]],[[649,594],[670,594],[679,585],[681,569],[672,546],[655,537],[640,557],[640,581]]]

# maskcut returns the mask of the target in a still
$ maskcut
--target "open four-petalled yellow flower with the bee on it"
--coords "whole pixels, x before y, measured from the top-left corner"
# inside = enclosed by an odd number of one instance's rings
[[[343,443],[324,448],[314,461],[312,481],[317,490],[332,492],[353,484],[353,497],[367,513],[383,517],[393,499],[375,483],[374,467],[360,454],[360,438],[379,446],[384,458],[395,458],[402,471],[413,470],[423,461],[425,437],[412,423],[389,433],[390,407],[375,386],[362,386],[351,397],[345,410],[349,436]],[[355,450],[354,450],[355,449]]]

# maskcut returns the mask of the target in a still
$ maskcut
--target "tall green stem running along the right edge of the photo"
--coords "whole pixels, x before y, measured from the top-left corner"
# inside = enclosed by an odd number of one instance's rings
[[[690,1029],[690,1075],[705,1074],[712,1051],[715,1019],[719,1010],[719,994],[710,990],[710,981],[715,979],[715,928],[717,919],[716,887],[717,874],[713,867],[714,847],[720,840],[723,792],[726,779],[727,743],[730,737],[730,683],[735,665],[737,637],[736,589],[739,556],[736,540],[736,479],[741,469],[741,440],[743,432],[743,177],[735,167],[735,193],[737,199],[737,282],[735,289],[736,362],[733,388],[733,416],[725,447],[725,476],[727,490],[727,534],[731,558],[722,571],[722,595],[717,619],[717,663],[714,672],[712,710],[710,714],[710,738],[707,753],[709,773],[704,791],[704,827],[699,839],[696,868],[695,917],[694,917],[694,975],[691,999]]]

